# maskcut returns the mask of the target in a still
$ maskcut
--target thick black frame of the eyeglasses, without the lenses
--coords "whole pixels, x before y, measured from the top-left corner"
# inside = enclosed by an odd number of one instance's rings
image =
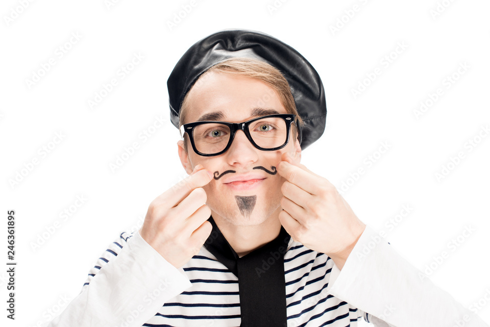
[[[255,121],[258,121],[258,120],[261,120],[264,118],[274,118],[274,117],[282,118],[284,120],[284,122],[286,123],[286,141],[284,142],[283,145],[281,145],[279,147],[272,148],[272,149],[261,148],[253,141],[252,136],[250,135],[250,132],[248,131],[248,126]],[[221,153],[226,152],[230,148],[231,143],[233,143],[233,140],[235,139],[235,134],[238,130],[242,130],[245,133],[248,141],[250,141],[250,143],[255,148],[262,150],[262,151],[276,151],[276,150],[284,148],[288,144],[289,132],[291,130],[291,123],[294,123],[295,117],[296,117],[296,115],[294,115],[294,114],[275,114],[275,115],[267,115],[267,116],[261,116],[261,117],[253,118],[253,119],[250,119],[250,120],[243,122],[243,123],[228,123],[228,122],[219,122],[219,121],[202,121],[202,122],[188,123],[188,124],[184,124],[184,125],[180,126],[180,137],[182,139],[184,139],[184,134],[187,133],[187,135],[189,136],[189,140],[191,141],[191,146],[192,146],[192,149],[194,150],[194,152],[196,152],[197,154],[202,155],[204,157],[211,157],[211,156],[215,156],[215,155],[220,155]],[[193,137],[194,128],[196,126],[199,126],[201,124],[206,124],[206,123],[223,124],[223,125],[228,126],[228,128],[230,129],[230,133],[231,133],[230,139],[228,140],[228,144],[226,145],[226,147],[222,151],[217,152],[217,153],[212,153],[212,154],[207,154],[207,153],[202,153],[202,152],[197,151],[196,145],[194,144],[194,137]]]

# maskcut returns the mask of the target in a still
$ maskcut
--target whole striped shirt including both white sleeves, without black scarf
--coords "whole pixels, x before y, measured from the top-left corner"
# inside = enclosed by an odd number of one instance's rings
[[[488,327],[369,226],[342,271],[292,239],[284,268],[288,327],[457,326],[464,317],[465,327]],[[138,231],[122,232],[48,327],[240,326],[239,300],[237,277],[205,247],[176,269]]]

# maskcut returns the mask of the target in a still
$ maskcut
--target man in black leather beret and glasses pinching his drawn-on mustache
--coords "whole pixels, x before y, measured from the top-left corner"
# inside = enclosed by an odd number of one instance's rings
[[[188,50],[168,84],[190,176],[102,254],[50,326],[487,326],[300,164],[326,107],[294,49],[221,31]]]

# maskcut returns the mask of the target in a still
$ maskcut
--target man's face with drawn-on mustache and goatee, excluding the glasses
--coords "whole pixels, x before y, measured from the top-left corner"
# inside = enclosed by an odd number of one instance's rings
[[[204,114],[218,112],[221,112],[222,117],[206,120],[241,123],[264,115],[288,113],[275,91],[258,79],[217,72],[206,73],[203,77],[205,82],[196,83],[189,91],[186,123],[196,122]],[[252,116],[252,109],[257,108],[276,112]],[[196,154],[190,142],[186,142],[188,154],[183,149],[183,141],[177,144],[187,174],[191,174],[194,167],[201,164],[213,173],[218,172],[215,176],[220,176],[203,187],[207,194],[206,204],[213,217],[221,216],[236,226],[252,226],[263,223],[274,213],[278,215],[281,210],[281,186],[285,179],[277,173],[270,173],[275,172],[284,152],[288,152],[298,163],[301,160],[301,147],[293,133],[284,148],[261,151],[248,141],[242,130],[238,130],[230,148],[211,157]],[[223,174],[229,170],[236,173]],[[249,181],[229,182],[237,178]],[[273,216],[277,217],[276,214]]]

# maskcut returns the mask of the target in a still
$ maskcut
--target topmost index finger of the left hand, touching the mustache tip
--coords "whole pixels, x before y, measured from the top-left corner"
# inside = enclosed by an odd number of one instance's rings
[[[172,188],[161,194],[157,199],[158,201],[170,203],[173,207],[187,197],[192,190],[206,185],[211,180],[213,180],[213,173],[207,169],[197,169],[196,172],[172,186]]]

